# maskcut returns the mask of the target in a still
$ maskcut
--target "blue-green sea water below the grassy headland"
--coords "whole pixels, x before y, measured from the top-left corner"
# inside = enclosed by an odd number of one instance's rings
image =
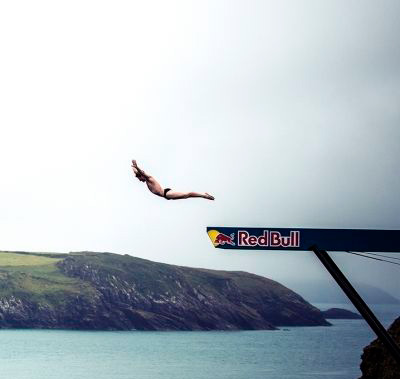
[[[320,309],[337,305],[317,304]],[[349,308],[343,304],[341,307]],[[351,309],[351,308],[349,308]],[[387,327],[400,306],[375,306]],[[10,379],[356,379],[375,338],[364,320],[239,332],[0,330]]]

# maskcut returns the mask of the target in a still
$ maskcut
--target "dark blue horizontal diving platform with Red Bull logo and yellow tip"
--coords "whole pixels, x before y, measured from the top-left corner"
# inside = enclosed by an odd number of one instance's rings
[[[400,230],[209,226],[207,234],[220,249],[400,252]]]

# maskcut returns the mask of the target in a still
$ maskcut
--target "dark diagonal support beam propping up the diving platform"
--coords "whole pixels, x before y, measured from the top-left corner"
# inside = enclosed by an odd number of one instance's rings
[[[354,289],[351,283],[347,280],[345,275],[340,271],[339,267],[329,256],[325,250],[319,250],[317,246],[312,246],[311,250],[314,251],[315,255],[322,262],[325,268],[329,271],[332,277],[336,280],[339,286],[342,288],[344,293],[357,308],[360,314],[367,321],[368,325],[375,332],[378,338],[381,340],[383,345],[392,354],[393,358],[400,365],[400,348],[397,346],[396,342],[382,326],[379,320],[376,318],[374,313],[369,309],[368,305],[364,302],[358,292]]]

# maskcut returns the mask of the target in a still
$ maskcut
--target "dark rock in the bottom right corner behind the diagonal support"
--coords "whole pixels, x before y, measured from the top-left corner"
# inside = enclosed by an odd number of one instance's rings
[[[395,320],[388,331],[400,346],[400,317]],[[378,339],[364,349],[361,358],[362,376],[360,379],[400,378],[400,366]]]

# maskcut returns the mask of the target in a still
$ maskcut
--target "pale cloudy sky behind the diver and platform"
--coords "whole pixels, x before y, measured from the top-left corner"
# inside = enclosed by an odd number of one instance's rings
[[[2,2],[0,250],[330,280],[206,227],[400,229],[399,35],[387,0]],[[158,198],[132,158],[216,200]],[[398,266],[332,257],[398,293]]]

